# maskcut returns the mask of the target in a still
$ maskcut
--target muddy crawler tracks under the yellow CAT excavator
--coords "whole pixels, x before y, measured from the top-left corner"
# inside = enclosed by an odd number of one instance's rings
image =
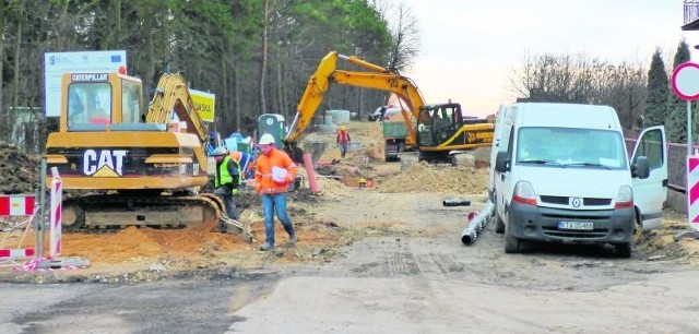
[[[61,220],[67,231],[117,230],[129,226],[209,228],[250,238],[249,227],[227,217],[221,199],[211,193],[81,195],[63,201]]]

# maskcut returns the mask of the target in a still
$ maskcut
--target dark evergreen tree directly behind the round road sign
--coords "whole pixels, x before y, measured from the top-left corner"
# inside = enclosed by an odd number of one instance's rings
[[[689,61],[689,46],[683,39],[677,46],[677,52],[673,60],[673,69]],[[673,143],[687,142],[687,103],[675,94],[668,94],[667,118],[665,119],[667,139]],[[694,126],[694,121],[692,121]],[[692,130],[694,131],[694,130]]]

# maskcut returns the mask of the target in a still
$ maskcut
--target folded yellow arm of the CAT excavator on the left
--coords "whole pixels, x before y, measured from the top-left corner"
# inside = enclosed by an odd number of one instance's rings
[[[167,126],[173,119],[173,112],[187,123],[187,132],[197,134],[202,144],[206,143],[206,127],[194,108],[185,77],[179,73],[167,73],[161,77],[145,121]]]

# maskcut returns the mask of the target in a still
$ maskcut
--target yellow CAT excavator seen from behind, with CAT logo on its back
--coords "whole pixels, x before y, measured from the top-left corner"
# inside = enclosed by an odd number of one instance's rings
[[[209,133],[182,75],[161,77],[145,114],[141,80],[121,73],[63,74],[61,96],[59,131],[48,136],[46,160],[69,194],[63,228],[217,222],[249,237],[218,198],[199,193],[209,182]]]

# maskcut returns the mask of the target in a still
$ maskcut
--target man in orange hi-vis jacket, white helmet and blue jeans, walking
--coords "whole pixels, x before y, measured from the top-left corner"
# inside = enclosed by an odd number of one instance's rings
[[[274,146],[274,136],[271,134],[262,134],[259,146],[261,154],[254,162],[254,192],[261,195],[264,211],[266,240],[260,250],[268,251],[274,248],[275,212],[288,234],[289,243],[296,243],[294,224],[286,214],[286,193],[288,184],[296,178],[296,165],[284,151]]]

